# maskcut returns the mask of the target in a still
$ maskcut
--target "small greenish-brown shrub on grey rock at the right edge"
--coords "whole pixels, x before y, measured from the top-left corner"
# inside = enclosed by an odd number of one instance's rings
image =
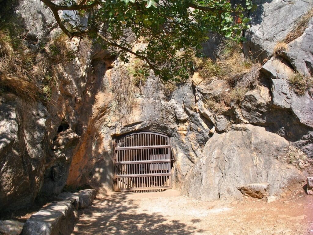
[[[302,96],[306,91],[313,90],[313,78],[309,76],[304,76],[299,72],[294,73],[289,77],[289,83],[291,89],[295,91],[296,94]]]

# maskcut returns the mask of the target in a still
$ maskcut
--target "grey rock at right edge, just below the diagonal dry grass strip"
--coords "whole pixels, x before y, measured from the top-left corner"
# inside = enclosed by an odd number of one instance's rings
[[[302,74],[311,76],[313,74],[313,20],[304,34],[290,42],[290,51],[286,53],[287,59],[292,66]]]

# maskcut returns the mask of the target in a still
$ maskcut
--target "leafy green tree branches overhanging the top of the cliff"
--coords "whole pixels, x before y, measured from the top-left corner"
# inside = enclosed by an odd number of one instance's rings
[[[190,55],[201,49],[208,32],[239,42],[249,27],[243,6],[228,0],[40,1],[51,9],[70,39],[89,37],[104,48],[113,46],[124,62],[129,61],[130,54],[136,55],[145,62],[147,70],[142,73],[152,69],[163,81],[187,77],[193,66]],[[245,4],[248,10],[253,7],[250,0]],[[87,16],[88,23],[73,19],[75,14]],[[143,38],[147,45],[133,51],[128,40],[131,35]]]

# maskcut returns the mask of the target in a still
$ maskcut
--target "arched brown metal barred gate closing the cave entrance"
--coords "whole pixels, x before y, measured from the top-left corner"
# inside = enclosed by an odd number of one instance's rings
[[[114,139],[114,191],[172,188],[167,135],[141,131]]]

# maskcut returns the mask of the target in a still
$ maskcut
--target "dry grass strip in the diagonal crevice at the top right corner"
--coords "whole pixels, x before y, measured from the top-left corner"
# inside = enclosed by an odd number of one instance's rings
[[[284,43],[288,44],[293,40],[299,38],[309,25],[310,19],[313,18],[313,8],[305,13],[295,25],[295,29],[292,30],[284,39]]]

